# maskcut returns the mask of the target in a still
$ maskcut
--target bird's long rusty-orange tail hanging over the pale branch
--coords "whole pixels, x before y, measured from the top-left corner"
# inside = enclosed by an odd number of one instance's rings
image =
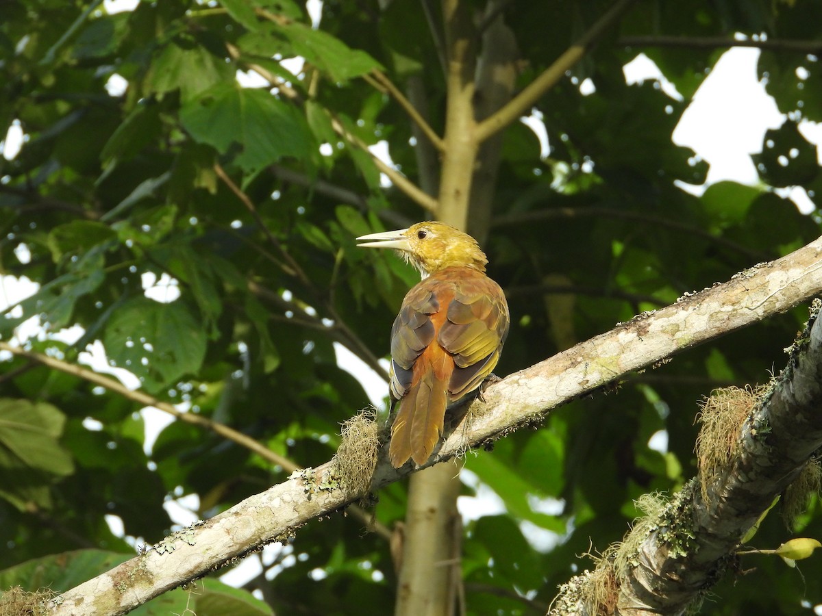
[[[434,351],[434,352],[430,352]],[[408,462],[424,464],[440,439],[448,404],[448,382],[454,360],[443,349],[429,347],[413,366],[408,393],[399,401],[391,425],[388,457],[395,468]]]

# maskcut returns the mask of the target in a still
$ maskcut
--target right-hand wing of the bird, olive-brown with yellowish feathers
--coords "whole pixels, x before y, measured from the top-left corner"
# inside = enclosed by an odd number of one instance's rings
[[[454,299],[438,337],[454,356],[452,400],[478,388],[491,374],[508,336],[508,324],[506,297],[491,278],[474,276],[455,283]]]

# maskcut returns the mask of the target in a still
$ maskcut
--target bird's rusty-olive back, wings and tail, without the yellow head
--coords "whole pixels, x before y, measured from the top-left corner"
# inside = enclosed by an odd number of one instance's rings
[[[469,267],[449,267],[413,287],[391,330],[391,393],[399,399],[389,457],[423,464],[445,424],[446,407],[491,374],[508,333],[501,288]]]

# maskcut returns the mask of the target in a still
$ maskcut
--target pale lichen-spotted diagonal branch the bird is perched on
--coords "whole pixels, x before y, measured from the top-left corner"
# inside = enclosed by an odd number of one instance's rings
[[[746,269],[727,283],[683,297],[653,313],[639,315],[489,386],[484,392],[485,401],[471,403],[463,425],[446,432],[446,439],[424,467],[462,455],[466,448],[489,444],[521,426],[543,421],[553,408],[611,383],[632,370],[652,365],[807,301],[822,292],[820,257],[822,238],[782,259]],[[815,333],[815,337],[819,338],[819,334]],[[815,340],[813,345],[820,347],[822,342]],[[820,370],[820,366],[814,366],[814,370]],[[806,372],[801,374],[808,375]],[[816,373],[813,378],[800,378],[809,389],[818,388],[815,383],[822,382],[822,375]],[[793,395],[785,389],[783,395]],[[793,398],[785,400],[788,405],[795,403]],[[818,408],[819,404],[817,398],[817,406],[812,408]],[[789,444],[788,448],[797,447],[790,453],[793,462],[806,455],[815,439],[812,434],[822,430],[822,416],[818,413],[808,416],[800,410],[799,414],[797,421],[801,423],[798,425],[807,427],[804,433],[791,434],[790,430],[797,424],[783,424],[780,423],[782,420],[773,425],[775,447],[782,448],[784,444]],[[748,425],[746,430],[750,431],[750,427]],[[768,443],[772,444],[770,437]],[[753,460],[746,457],[745,463],[750,464]],[[58,595],[50,603],[50,613],[60,616],[125,614],[162,592],[201,577],[260,545],[288,540],[302,524],[363,497],[365,490],[345,489],[345,478],[330,481],[330,471],[330,464],[326,463],[314,470],[295,473],[284,483],[256,494],[206,522],[169,536],[147,554]],[[378,490],[413,471],[411,465],[400,469],[391,467],[383,448],[369,490]],[[713,485],[711,490],[719,494],[730,485]],[[746,488],[750,490],[750,486]],[[764,497],[760,495],[757,499]],[[732,513],[724,500],[709,505],[708,511],[717,516]],[[745,513],[745,516],[749,515]],[[715,559],[718,552],[727,549],[728,539],[723,533],[727,533],[727,529],[712,536],[718,540],[716,546],[697,553],[700,562]],[[734,540],[738,540],[738,536]],[[129,582],[121,583],[124,580]]]

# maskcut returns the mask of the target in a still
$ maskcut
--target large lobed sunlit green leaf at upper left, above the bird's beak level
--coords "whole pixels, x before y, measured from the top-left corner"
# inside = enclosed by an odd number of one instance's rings
[[[194,139],[220,154],[236,152],[234,162],[250,174],[285,156],[306,158],[313,143],[293,106],[266,90],[236,83],[203,92],[180,109],[180,121]]]

